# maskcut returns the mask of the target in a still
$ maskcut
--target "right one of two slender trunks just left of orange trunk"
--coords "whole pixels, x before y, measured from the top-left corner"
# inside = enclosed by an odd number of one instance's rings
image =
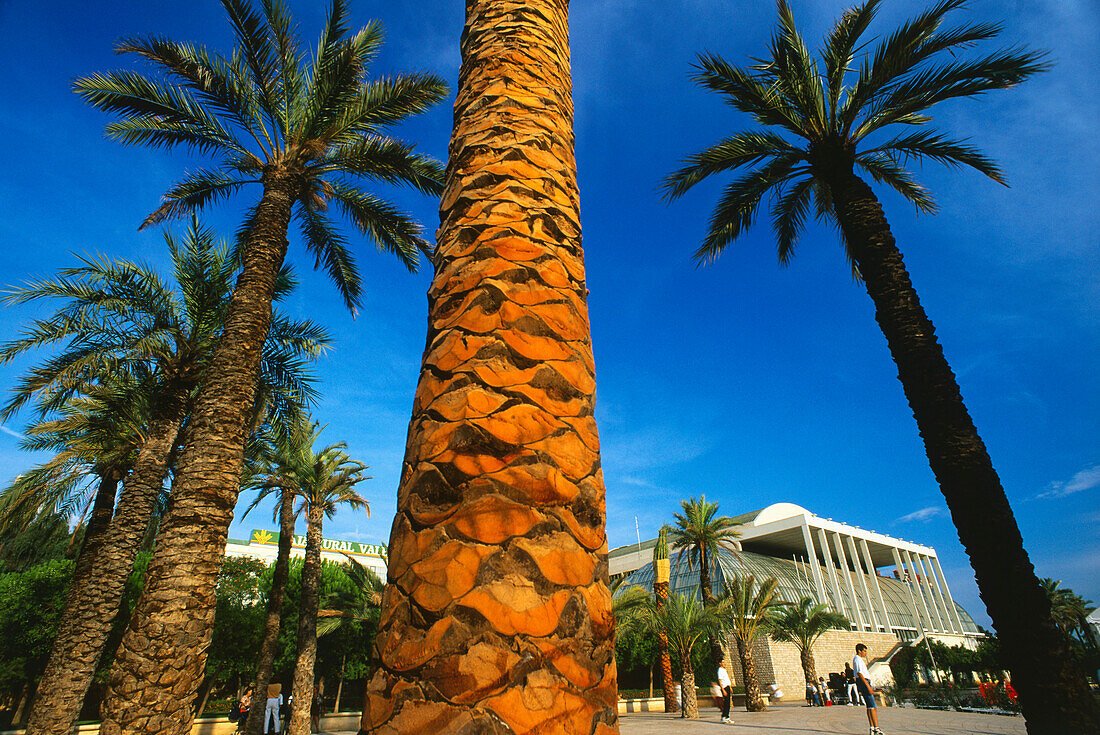
[[[289,735],[309,735],[309,709],[314,703],[314,665],[317,661],[317,611],[320,607],[321,524],[324,508],[310,503],[306,527],[306,558],[301,564],[301,597],[298,601],[298,659],[294,667],[294,698]]]

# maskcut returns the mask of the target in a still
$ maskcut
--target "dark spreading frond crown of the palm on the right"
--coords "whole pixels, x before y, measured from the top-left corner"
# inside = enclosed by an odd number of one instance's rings
[[[746,69],[714,54],[698,57],[697,84],[726,96],[735,109],[772,130],[727,138],[689,157],[666,179],[664,195],[671,200],[708,176],[752,168],[725,189],[696,260],[714,260],[744,234],[770,195],[779,261],[785,265],[812,209],[818,219],[835,219],[833,178],[854,168],[930,213],[936,205],[905,168],[909,160],[967,165],[1005,183],[997,165],[977,149],[931,128],[873,142],[869,138],[891,125],[926,125],[932,121],[928,109],[945,100],[1016,85],[1045,68],[1043,54],[1008,50],[969,61],[958,57],[957,52],[997,36],[1001,25],[944,29],[945,15],[965,0],[942,0],[883,39],[857,66],[856,56],[865,47],[860,39],[881,4],[866,0],[833,28],[818,65],[790,7],[784,0],[778,4],[779,28],[767,59]]]

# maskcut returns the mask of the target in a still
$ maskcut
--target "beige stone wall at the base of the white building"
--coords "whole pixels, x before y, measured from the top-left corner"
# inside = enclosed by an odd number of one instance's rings
[[[867,646],[868,659],[875,661],[884,657],[898,645],[897,636],[889,633],[867,633],[857,630],[831,630],[814,644],[814,662],[817,676],[828,680],[831,671],[843,672],[845,661],[850,662],[856,655],[856,644]],[[735,685],[743,685],[741,665],[737,657],[737,644],[729,641],[730,658]],[[802,673],[802,661],[794,644],[776,643],[767,636],[759,636],[752,644],[752,657],[756,662],[757,681],[762,693],[767,693],[768,684],[777,683],[783,690],[784,700],[801,700],[805,698],[805,678]],[[884,662],[883,662],[884,663]],[[893,683],[888,666],[871,667],[871,682],[876,688]]]

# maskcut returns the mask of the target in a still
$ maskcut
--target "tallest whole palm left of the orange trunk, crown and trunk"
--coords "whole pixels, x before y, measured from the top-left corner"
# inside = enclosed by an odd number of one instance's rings
[[[316,264],[355,309],[359,271],[327,213],[329,205],[415,270],[418,251],[427,249],[419,226],[355,179],[426,194],[441,189],[441,166],[385,131],[438,102],[446,85],[430,75],[370,81],[367,66],[382,44],[377,24],[351,33],[343,0],[332,0],[310,57],[284,3],[265,0],[258,12],[248,0],[222,4],[237,37],[231,55],[157,36],[125,39],[118,51],[148,62],[152,74],[112,72],[75,83],[90,105],[118,114],[107,128],[109,138],[217,157],[216,167],[173,186],[143,226],[201,209],[248,184],[262,189],[239,232],[241,275],[197,399],[191,442],[179,457],[176,497],[116,659],[107,727],[184,733],[190,726],[190,699],[201,679],[221,550],[239,492],[244,427],[292,219]],[[151,667],[172,673],[151,685]],[[167,721],[168,729],[152,724]]]

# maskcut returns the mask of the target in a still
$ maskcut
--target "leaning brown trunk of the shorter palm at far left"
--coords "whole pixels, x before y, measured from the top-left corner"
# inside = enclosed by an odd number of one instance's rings
[[[134,556],[141,548],[157,495],[168,474],[168,457],[187,413],[189,393],[190,386],[184,382],[167,386],[150,418],[145,443],[123,482],[118,512],[102,537],[102,548],[85,573],[80,571],[80,562],[77,563],[57,637],[31,710],[28,735],[64,733],[76,725],[122,605]],[[110,493],[113,504],[113,485]],[[91,533],[91,524],[88,533]]]

